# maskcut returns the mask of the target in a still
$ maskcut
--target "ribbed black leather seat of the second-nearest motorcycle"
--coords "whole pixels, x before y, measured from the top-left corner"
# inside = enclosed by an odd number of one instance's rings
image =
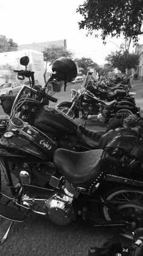
[[[76,130],[76,136],[78,141],[83,144],[86,148],[98,149],[99,141],[101,140],[103,132],[95,132],[93,130],[88,130],[81,124],[79,124]]]

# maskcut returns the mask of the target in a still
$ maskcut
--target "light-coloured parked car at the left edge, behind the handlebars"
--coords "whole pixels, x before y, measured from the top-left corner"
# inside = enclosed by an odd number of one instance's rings
[[[21,90],[22,84],[19,82],[11,82],[0,87],[0,96],[16,95]]]

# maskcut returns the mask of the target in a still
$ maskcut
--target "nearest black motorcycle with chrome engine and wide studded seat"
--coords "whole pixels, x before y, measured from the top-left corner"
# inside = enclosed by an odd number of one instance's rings
[[[30,88],[30,92],[35,93],[35,89]],[[41,130],[22,121],[15,115],[21,105],[19,95],[10,118],[1,117],[1,174],[7,177],[12,196],[1,190],[1,200],[6,202],[1,203],[0,216],[22,222],[34,212],[60,226],[83,221],[93,227],[120,227],[124,232],[138,227],[138,218],[142,221],[143,177],[142,172],[139,177],[129,174],[131,167],[139,167],[142,161],[142,138],[133,140],[130,136],[136,148],[131,145],[134,150],[126,162],[119,154],[120,174],[107,165],[108,150],[74,152],[58,148]],[[51,108],[45,105],[44,111],[51,112]],[[56,111],[59,116],[61,112]],[[110,157],[114,155],[113,150]],[[15,185],[12,174],[18,179]],[[136,221],[131,213],[135,213]]]

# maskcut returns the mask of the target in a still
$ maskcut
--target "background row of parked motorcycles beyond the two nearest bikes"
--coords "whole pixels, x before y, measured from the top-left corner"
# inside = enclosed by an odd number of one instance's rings
[[[87,73],[79,90],[71,89],[71,101],[59,102],[56,107],[71,118],[107,124],[110,118],[125,118],[139,113],[135,94],[130,92],[130,79],[118,82],[110,79],[96,81]]]

